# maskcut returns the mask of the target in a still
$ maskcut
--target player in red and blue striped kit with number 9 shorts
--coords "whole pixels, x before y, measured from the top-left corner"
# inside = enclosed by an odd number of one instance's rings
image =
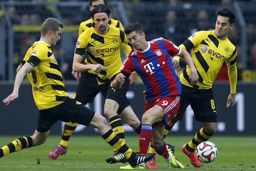
[[[125,34],[134,47],[127,55],[118,74],[112,83],[117,91],[125,84],[132,72],[136,72],[145,85],[145,113],[142,115],[142,129],[139,137],[139,152],[147,154],[148,146],[152,145],[156,153],[163,156],[170,167],[184,168],[175,159],[163,141],[164,125],[176,114],[180,107],[181,84],[171,58],[180,55],[191,69],[189,81],[195,85],[198,74],[189,53],[175,46],[172,42],[157,38],[149,42],[139,24],[125,27]],[[131,166],[121,167],[129,169]]]

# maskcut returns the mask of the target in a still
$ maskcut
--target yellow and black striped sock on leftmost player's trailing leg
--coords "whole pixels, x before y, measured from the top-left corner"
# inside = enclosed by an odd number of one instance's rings
[[[25,148],[30,148],[33,145],[31,137],[20,137],[17,140],[12,141],[10,144],[3,146],[0,149],[0,158],[6,154],[20,151]]]

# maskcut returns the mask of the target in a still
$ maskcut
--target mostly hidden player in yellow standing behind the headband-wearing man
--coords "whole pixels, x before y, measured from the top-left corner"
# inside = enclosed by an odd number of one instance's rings
[[[89,1],[89,9],[92,11],[94,7],[98,6],[99,4],[105,4],[107,5],[106,0],[90,0]],[[114,20],[111,18],[112,23],[110,26],[117,27],[119,29],[123,30],[123,25],[120,21]],[[89,20],[86,20],[84,22],[81,22],[79,26],[79,32],[78,35],[83,33],[85,30],[89,29],[93,25],[93,20],[90,18]],[[131,46],[122,43],[122,48],[125,52],[125,54],[129,54],[131,51]],[[85,64],[92,64],[91,60],[89,59],[88,55],[85,55]],[[92,70],[88,70],[81,73],[75,73],[72,71],[72,75],[79,80],[79,83],[76,87],[76,91],[73,94],[73,99],[76,101],[79,101],[86,105],[87,103],[93,102],[93,99],[96,97],[96,95],[101,91],[99,88],[97,78],[96,78],[96,73],[93,72]],[[137,74],[133,73],[130,77],[130,85],[133,85],[137,81]],[[120,113],[118,113],[120,114]],[[135,118],[136,121],[134,120],[129,120],[128,124],[136,130],[138,126],[140,125],[140,122],[137,118]],[[62,135],[61,135],[61,141],[60,144],[52,150],[49,154],[48,157],[52,159],[57,159],[59,155],[63,155],[67,152],[67,146],[68,146],[68,140],[74,130],[76,129],[77,123],[72,123],[68,122],[65,123],[63,130],[62,130]],[[140,130],[136,130],[139,134]],[[115,150],[116,152],[116,150]],[[121,161],[122,162],[122,161]]]

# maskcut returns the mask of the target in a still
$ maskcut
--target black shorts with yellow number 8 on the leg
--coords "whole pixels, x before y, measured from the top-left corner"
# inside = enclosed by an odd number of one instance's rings
[[[181,84],[180,109],[172,119],[181,121],[188,105],[196,121],[217,122],[217,109],[212,89],[197,89]]]

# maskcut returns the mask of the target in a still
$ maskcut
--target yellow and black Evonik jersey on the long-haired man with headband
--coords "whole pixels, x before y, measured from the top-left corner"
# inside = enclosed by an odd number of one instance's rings
[[[104,66],[105,69],[97,73],[98,84],[101,85],[120,72],[122,43],[129,44],[123,30],[109,26],[108,33],[98,34],[91,27],[80,34],[76,42],[75,54],[82,56],[86,50],[93,64]]]

